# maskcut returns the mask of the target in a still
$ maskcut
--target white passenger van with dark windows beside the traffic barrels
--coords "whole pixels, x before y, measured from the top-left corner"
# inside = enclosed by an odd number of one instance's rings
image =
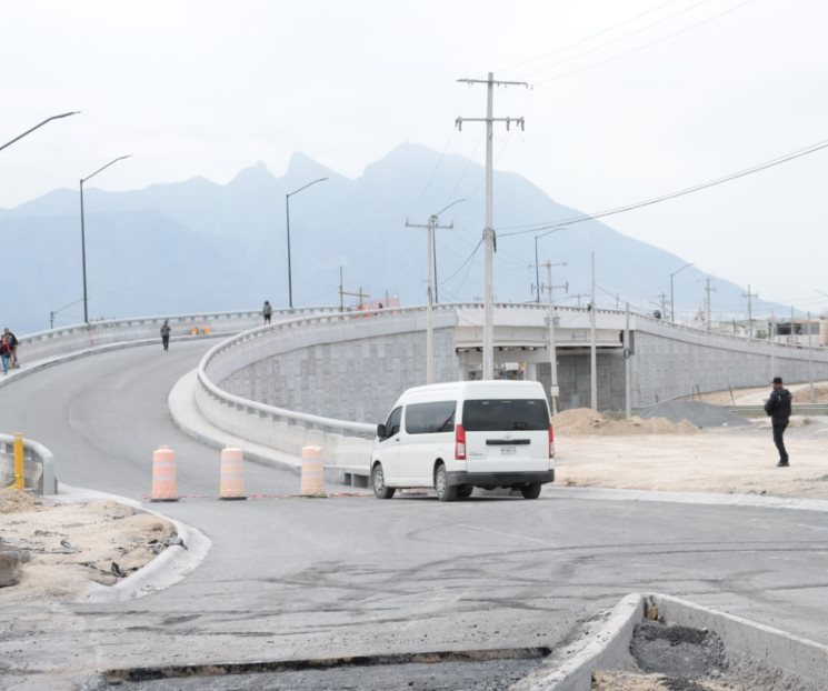
[[[537,381],[457,381],[415,387],[377,425],[371,485],[433,487],[440,501],[476,487],[510,488],[537,499],[555,480],[549,405]]]

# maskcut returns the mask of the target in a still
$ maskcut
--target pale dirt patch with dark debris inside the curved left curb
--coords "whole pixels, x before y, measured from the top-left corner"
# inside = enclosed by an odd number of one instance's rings
[[[112,585],[154,559],[172,531],[168,521],[113,501],[51,504],[0,490],[0,540],[31,554],[20,582],[0,588],[0,605]]]

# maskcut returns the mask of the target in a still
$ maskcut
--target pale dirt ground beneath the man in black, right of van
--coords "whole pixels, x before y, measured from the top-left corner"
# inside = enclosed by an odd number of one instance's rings
[[[776,467],[767,419],[690,433],[667,420],[658,423],[660,433],[642,432],[636,420],[615,421],[613,433],[585,432],[585,424],[556,425],[558,485],[828,499],[828,418],[791,418],[785,434],[790,468]]]

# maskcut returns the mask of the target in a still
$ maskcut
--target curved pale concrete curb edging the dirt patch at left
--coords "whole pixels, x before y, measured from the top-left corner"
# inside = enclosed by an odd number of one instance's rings
[[[144,513],[157,515],[172,523],[179,538],[187,545],[187,549],[176,545],[168,547],[146,567],[114,585],[92,583],[87,592],[77,600],[78,602],[122,602],[169,588],[192,572],[204,560],[212,547],[210,539],[197,528],[148,509],[133,499],[66,484],[61,485],[61,491],[60,495],[53,498],[56,503],[117,501]]]

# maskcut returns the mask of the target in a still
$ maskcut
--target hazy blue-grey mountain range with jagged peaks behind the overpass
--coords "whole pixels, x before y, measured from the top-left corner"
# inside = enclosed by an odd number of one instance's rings
[[[339,302],[345,290],[373,299],[398,296],[421,304],[426,292],[425,223],[440,217],[452,230],[437,238],[441,302],[482,296],[483,169],[459,156],[441,157],[402,144],[349,180],[308,157],[293,154],[285,176],[257,163],[228,184],[203,178],[129,192],[84,190],[90,319],[258,309],[269,299],[288,303],[285,194],[328,178],[290,199],[293,304]],[[581,216],[550,199],[527,179],[495,173],[495,293],[499,301],[531,301],[536,282],[535,236],[508,234],[511,227]],[[3,324],[18,333],[82,321],[80,212],[77,190],[61,189],[0,210],[4,241]],[[542,232],[542,231],[540,231]],[[477,251],[476,251],[477,247]],[[590,251],[596,251],[599,306],[629,301],[642,311],[669,310],[670,273],[686,261],[634,240],[600,221],[577,223],[538,240],[541,262],[555,267],[556,300],[586,303]],[[705,300],[707,274],[695,267],[675,277],[676,313],[689,316]],[[744,288],[714,277],[714,318],[730,317],[720,304],[745,303]],[[541,282],[546,282],[541,270]],[[355,299],[347,301],[353,303]],[[73,303],[73,304],[72,304]],[[70,307],[66,307],[70,306]],[[755,313],[765,309],[758,304]],[[744,318],[744,311],[734,314]]]

